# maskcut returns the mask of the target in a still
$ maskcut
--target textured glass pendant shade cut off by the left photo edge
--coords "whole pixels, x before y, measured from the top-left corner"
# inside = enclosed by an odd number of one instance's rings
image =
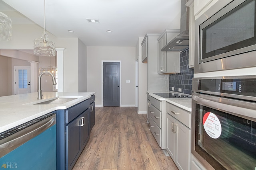
[[[0,41],[12,40],[12,20],[0,12]]]

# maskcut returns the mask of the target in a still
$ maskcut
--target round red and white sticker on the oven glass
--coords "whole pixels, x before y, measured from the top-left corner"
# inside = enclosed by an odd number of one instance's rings
[[[217,139],[221,135],[221,125],[218,117],[212,113],[207,112],[203,117],[204,130],[213,139]]]

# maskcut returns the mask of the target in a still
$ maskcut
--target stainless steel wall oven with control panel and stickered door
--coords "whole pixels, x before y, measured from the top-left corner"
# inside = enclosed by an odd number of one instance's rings
[[[207,169],[256,169],[256,76],[193,78],[192,154]]]

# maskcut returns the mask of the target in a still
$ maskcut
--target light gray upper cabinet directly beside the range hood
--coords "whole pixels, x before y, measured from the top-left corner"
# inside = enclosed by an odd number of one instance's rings
[[[158,74],[174,74],[180,72],[180,52],[161,51],[179,33],[180,29],[166,29],[158,37]]]

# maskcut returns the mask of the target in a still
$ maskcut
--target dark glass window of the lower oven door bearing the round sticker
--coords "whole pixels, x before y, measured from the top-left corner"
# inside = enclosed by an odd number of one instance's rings
[[[196,104],[195,150],[214,169],[256,169],[256,122]]]

